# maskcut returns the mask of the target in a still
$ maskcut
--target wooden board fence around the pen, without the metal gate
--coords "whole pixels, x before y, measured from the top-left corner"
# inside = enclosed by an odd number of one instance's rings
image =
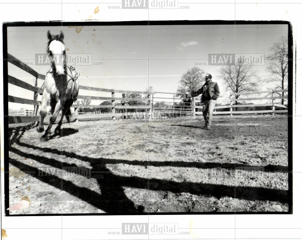
[[[8,54],[8,62],[14,64],[15,66],[21,68],[22,70],[26,71],[27,73],[30,73],[32,76],[34,76],[35,84],[32,86],[29,83],[26,83],[20,79],[17,79],[13,76],[8,75],[8,83],[13,84],[15,86],[21,87],[23,89],[27,89],[32,91],[33,99],[24,99],[16,96],[8,95],[8,102],[14,102],[14,103],[21,103],[21,104],[29,104],[34,105],[34,115],[26,114],[24,116],[20,116],[18,114],[9,114],[8,115],[8,123],[24,123],[24,122],[37,122],[39,121],[38,116],[38,109],[41,105],[41,102],[37,100],[37,95],[42,95],[43,89],[40,90],[38,87],[38,79],[45,79],[45,75],[37,73],[35,70],[33,70],[31,67],[27,66],[25,63],[21,62],[17,58],[13,57],[11,54]],[[101,96],[84,96],[79,95],[78,99],[91,99],[91,100],[100,100],[100,101],[108,101],[111,104],[108,105],[79,105],[79,101],[72,105],[73,108],[75,108],[75,118],[77,119],[100,119],[102,117],[112,117],[115,119],[116,117],[121,117],[125,115],[132,115],[136,118],[149,118],[150,115],[152,115],[152,101],[151,96],[148,92],[139,92],[139,91],[125,91],[125,90],[115,90],[115,89],[104,89],[104,88],[96,88],[96,87],[88,87],[88,86],[79,86],[79,89],[82,90],[88,90],[88,91],[97,91],[97,92],[110,92],[111,97],[101,97]],[[40,90],[40,92],[38,92]],[[280,92],[288,92],[288,90],[275,90],[275,91],[262,91],[262,92],[244,92],[244,93],[233,93],[230,95],[230,99],[228,100],[230,102],[229,105],[223,105],[223,106],[216,106],[215,109],[228,109],[228,111],[215,111],[214,114],[254,114],[254,113],[286,113],[287,106],[277,104],[275,103],[276,99],[287,99],[288,96],[275,96],[274,94],[280,93]],[[38,94],[37,94],[38,93]],[[146,97],[139,97],[139,98],[119,98],[115,97],[116,93],[137,93],[145,95]],[[267,93],[271,94],[271,96],[267,97],[253,97],[253,98],[237,98],[238,95],[255,95],[255,94],[262,94]],[[280,94],[279,94],[280,95]],[[282,94],[283,95],[283,94]],[[140,103],[140,105],[121,105],[120,102],[124,101],[133,101],[136,103]],[[254,101],[254,100],[271,100],[271,103],[265,103],[265,104],[238,104],[238,102],[242,101]],[[234,104],[235,103],[235,104]],[[236,104],[237,103],[237,104]],[[196,111],[196,109],[201,109],[202,106],[196,105],[196,100],[193,100],[193,104],[191,105],[191,110],[188,112],[188,109],[186,109],[186,113],[188,115],[199,115],[202,114],[202,112]],[[237,108],[241,107],[256,107],[256,106],[271,106],[271,110],[261,110],[261,111],[237,111]],[[284,110],[275,110],[275,107],[284,108]],[[91,114],[78,114],[79,108],[96,108],[96,109],[102,109],[102,108],[109,108],[111,109],[111,112],[109,113],[100,113],[101,111],[97,110],[98,112],[94,112]],[[119,112],[121,109],[129,109],[129,111],[125,112]],[[130,109],[135,109],[135,112],[132,112]],[[137,112],[137,110],[140,110]],[[12,112],[11,112],[12,113]],[[96,114],[97,113],[97,114]],[[155,114],[155,112],[154,112]]]

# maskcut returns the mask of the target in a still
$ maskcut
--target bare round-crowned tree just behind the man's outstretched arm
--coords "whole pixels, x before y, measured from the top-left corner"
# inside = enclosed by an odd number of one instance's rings
[[[197,91],[202,86],[202,76],[205,74],[204,70],[193,67],[182,75],[179,81],[180,86],[177,89],[178,96],[185,94],[192,95],[192,92]]]

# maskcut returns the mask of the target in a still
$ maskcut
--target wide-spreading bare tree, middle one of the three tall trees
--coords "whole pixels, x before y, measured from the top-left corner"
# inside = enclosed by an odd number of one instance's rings
[[[243,93],[257,89],[257,76],[252,65],[238,63],[237,65],[224,66],[220,69],[220,73],[226,83],[226,89],[231,92]],[[240,94],[236,95],[235,98],[238,99],[239,96]]]

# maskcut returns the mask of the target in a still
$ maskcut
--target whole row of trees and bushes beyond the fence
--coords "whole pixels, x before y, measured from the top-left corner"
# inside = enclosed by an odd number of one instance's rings
[[[287,89],[288,88],[288,39],[287,37],[281,37],[278,42],[275,42],[270,48],[270,54],[266,57],[267,61],[274,64],[266,66],[266,70],[270,75],[260,82],[260,77],[255,70],[255,67],[251,64],[246,65],[244,63],[238,63],[236,65],[222,66],[220,68],[220,75],[225,83],[226,91],[232,93],[244,93],[244,92],[257,92],[262,88],[263,84],[266,84],[267,90],[276,89]],[[177,96],[181,98],[181,102],[175,102],[173,105],[166,102],[154,102],[153,108],[174,108],[183,109],[185,106],[190,105],[191,95],[193,92],[197,91],[204,84],[203,76],[206,72],[198,67],[193,67],[188,69],[181,77],[179,81],[179,86],[177,89]],[[154,90],[151,87],[147,88],[146,91],[152,95]],[[276,93],[277,95],[284,96],[284,92]],[[125,95],[126,98],[143,98],[142,95],[137,93],[130,93]],[[146,98],[144,96],[144,98]],[[240,97],[240,94],[234,96],[235,99]],[[191,99],[192,100],[192,99]],[[89,105],[91,100],[81,99],[79,112],[96,112],[100,111],[111,112],[111,108],[81,108],[81,105]],[[146,101],[129,101],[129,105],[147,105]],[[280,100],[280,103],[284,105],[284,99]],[[235,101],[236,105],[246,104],[242,102]],[[111,102],[104,101],[100,105],[111,105]],[[121,103],[116,103],[116,105],[121,105]],[[221,105],[219,103],[217,106]],[[250,107],[240,108],[242,111],[249,110],[265,110],[266,107]],[[269,107],[267,107],[269,108]],[[146,112],[146,109],[139,109],[140,112]],[[117,111],[122,111],[121,109]],[[137,109],[128,109],[128,112],[136,112]],[[217,109],[217,111],[225,111],[225,109]]]

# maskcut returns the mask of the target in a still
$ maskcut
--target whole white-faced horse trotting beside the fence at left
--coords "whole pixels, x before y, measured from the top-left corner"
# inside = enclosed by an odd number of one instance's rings
[[[62,110],[62,117],[55,129],[55,134],[61,133],[63,116],[66,115],[69,121],[69,116],[71,115],[70,107],[76,101],[79,93],[79,73],[75,72],[74,67],[66,66],[66,53],[62,31],[59,35],[51,35],[47,31],[47,37],[47,53],[51,61],[51,70],[47,72],[43,84],[44,91],[40,110],[40,122],[37,126],[38,132],[44,131],[43,121],[47,115],[47,106],[49,105],[51,117],[45,134],[40,138],[40,141],[48,140],[51,126],[56,121],[58,113]]]

